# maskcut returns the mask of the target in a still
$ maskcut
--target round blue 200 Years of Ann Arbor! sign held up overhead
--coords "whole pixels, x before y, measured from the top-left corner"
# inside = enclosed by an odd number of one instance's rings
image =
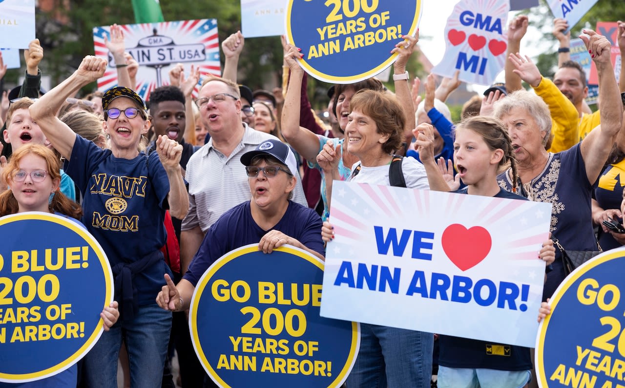
[[[301,49],[299,64],[334,84],[371,78],[396,59],[404,35],[417,31],[421,0],[289,0],[287,41]]]

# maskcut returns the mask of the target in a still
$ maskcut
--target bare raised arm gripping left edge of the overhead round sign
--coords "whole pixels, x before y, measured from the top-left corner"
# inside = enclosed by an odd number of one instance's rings
[[[295,150],[306,160],[316,160],[319,153],[319,138],[310,130],[299,126],[299,109],[301,107],[300,91],[302,89],[302,77],[304,70],[297,64],[297,59],[301,58],[299,49],[288,45],[289,50],[284,56],[284,60],[289,65],[289,88],[284,97],[284,108],[282,109],[282,136]]]

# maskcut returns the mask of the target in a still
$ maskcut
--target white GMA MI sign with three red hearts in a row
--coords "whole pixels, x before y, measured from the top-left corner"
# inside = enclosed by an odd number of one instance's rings
[[[469,84],[490,85],[504,69],[509,0],[461,0],[447,19],[446,51],[432,72]]]

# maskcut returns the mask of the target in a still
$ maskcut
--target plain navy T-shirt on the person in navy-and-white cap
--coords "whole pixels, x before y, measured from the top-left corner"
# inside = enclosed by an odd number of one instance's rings
[[[321,217],[316,211],[289,201],[286,213],[271,230],[281,231],[302,243],[306,248],[325,256],[321,240],[321,225]],[[249,201],[234,206],[206,231],[204,241],[189,264],[189,270],[184,274],[184,279],[195,286],[214,261],[236,248],[259,243],[268,231],[258,226],[252,218]]]

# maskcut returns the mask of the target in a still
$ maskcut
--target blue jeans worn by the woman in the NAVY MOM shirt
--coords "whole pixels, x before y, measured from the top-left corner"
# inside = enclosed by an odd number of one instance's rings
[[[117,367],[121,341],[126,342],[133,388],[160,387],[167,357],[171,312],[155,304],[139,306],[130,323],[121,319],[103,332],[99,341],[84,357],[83,374],[88,387],[117,388]]]

